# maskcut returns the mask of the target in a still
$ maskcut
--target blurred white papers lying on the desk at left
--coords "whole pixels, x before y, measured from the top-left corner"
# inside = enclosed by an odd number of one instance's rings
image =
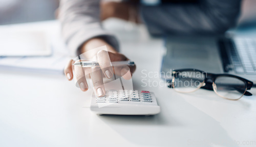
[[[16,36],[17,40],[21,39],[22,36],[26,36],[26,39],[12,41],[9,38],[0,35],[0,44],[5,44],[3,45],[4,47],[0,49],[0,69],[63,74],[63,69],[71,57],[61,39],[60,25],[58,21],[0,26],[0,31],[1,29],[3,31],[3,28],[5,30],[4,32],[10,30],[10,32],[14,34],[16,33],[16,35],[19,34]],[[38,41],[42,34],[46,35],[48,41]],[[50,54],[42,54],[39,56],[27,56],[23,54],[29,50],[36,52],[40,50],[41,46],[49,46]],[[10,53],[13,52],[13,55],[16,53],[17,55],[24,56],[1,55],[1,51],[3,53],[8,52],[8,50],[12,50]]]

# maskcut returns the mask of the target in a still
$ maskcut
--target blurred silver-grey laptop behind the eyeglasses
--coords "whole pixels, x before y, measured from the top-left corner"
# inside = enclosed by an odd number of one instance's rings
[[[161,76],[175,69],[194,68],[228,73],[256,83],[256,38],[224,36],[168,36]]]

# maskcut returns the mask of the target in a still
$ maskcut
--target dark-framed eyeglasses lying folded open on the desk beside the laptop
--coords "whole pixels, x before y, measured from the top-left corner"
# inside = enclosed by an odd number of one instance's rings
[[[180,93],[191,93],[198,89],[214,91],[218,96],[228,100],[238,100],[245,96],[252,96],[250,90],[253,82],[230,74],[213,74],[196,69],[174,70],[172,87]]]

